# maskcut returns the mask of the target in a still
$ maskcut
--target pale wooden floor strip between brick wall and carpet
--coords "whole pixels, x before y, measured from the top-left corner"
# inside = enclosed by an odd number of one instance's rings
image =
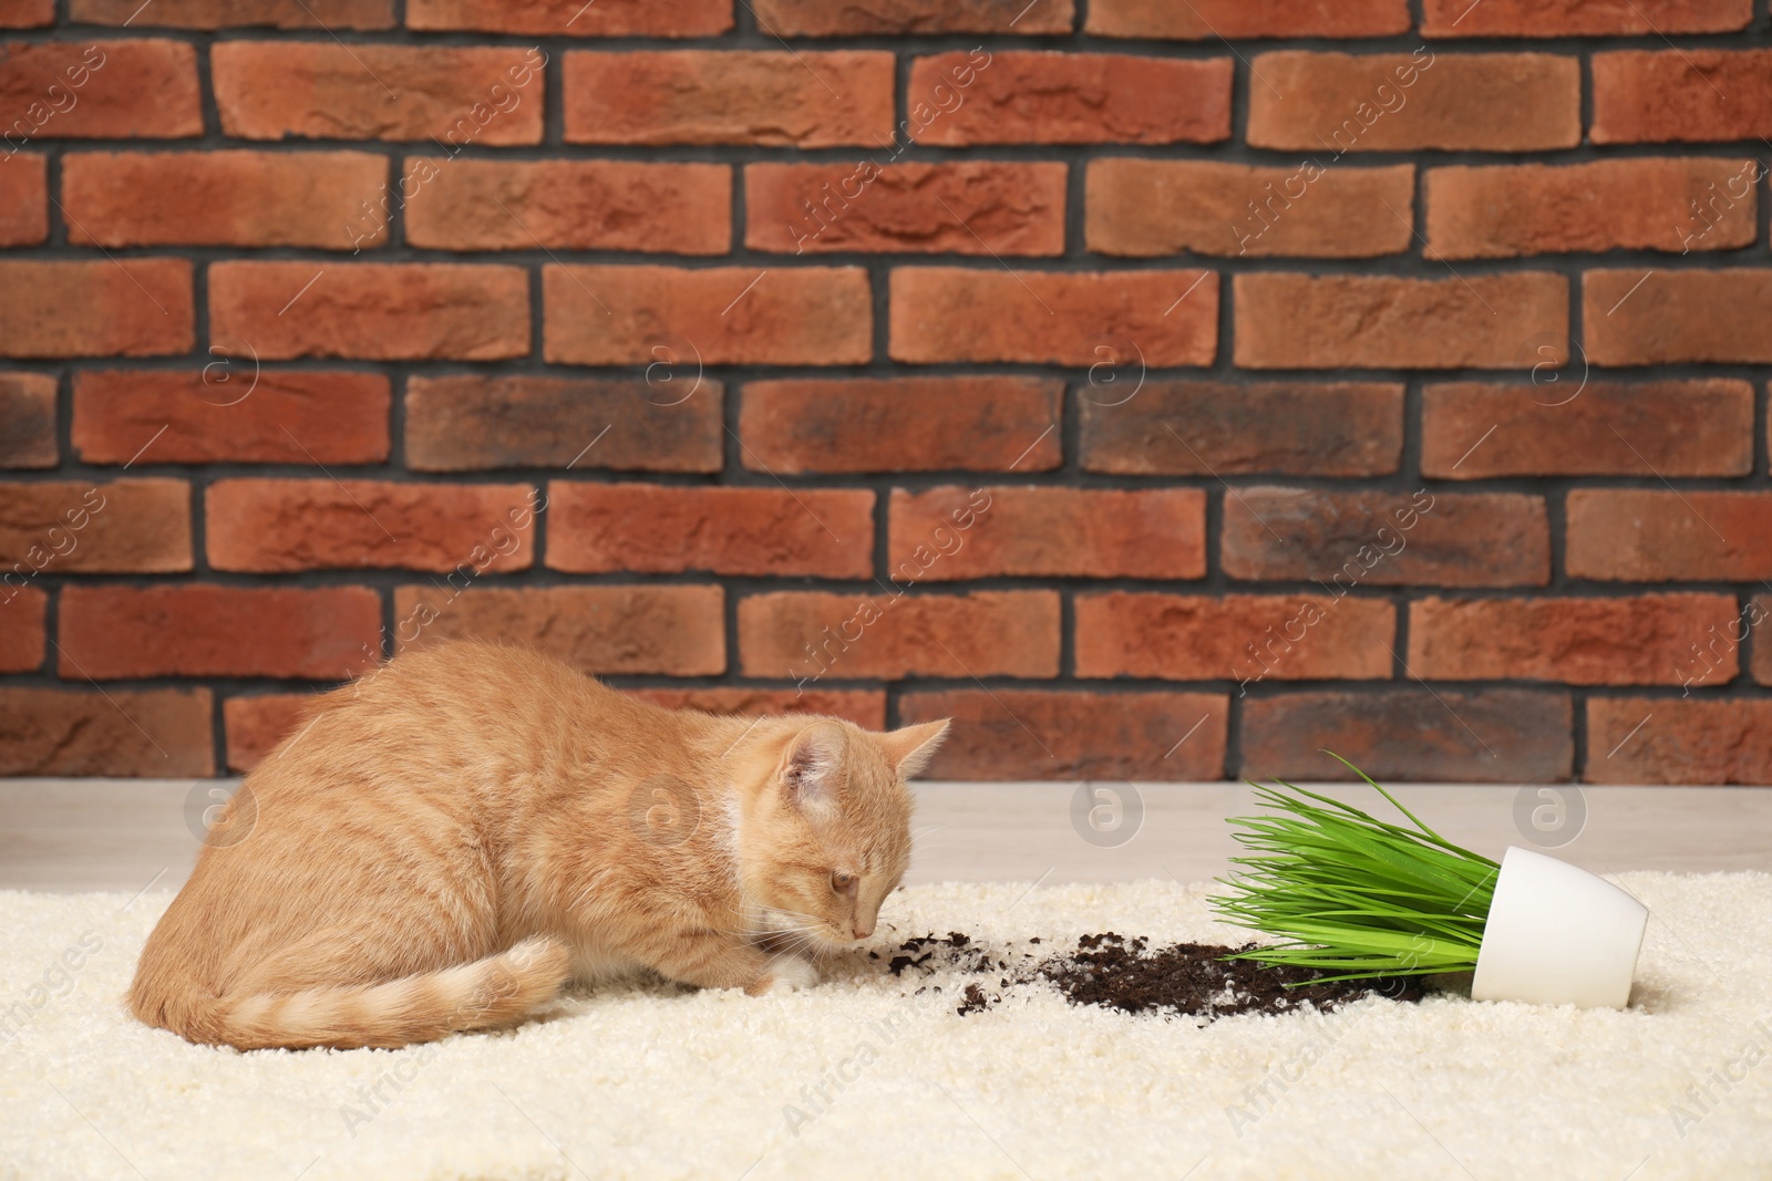
[[[204,809],[222,799],[213,791],[234,783],[0,781],[0,889],[172,889],[197,857]],[[1205,880],[1224,873],[1235,852],[1224,818],[1251,811],[1249,788],[1226,783],[914,786],[913,882]],[[1329,791],[1372,811],[1373,802],[1382,806],[1370,788]],[[1772,871],[1772,788],[1432,784],[1395,791],[1446,838],[1488,855],[1529,845],[1602,873]],[[1579,807],[1586,811],[1579,836],[1558,845]],[[1143,818],[1134,822],[1138,811]],[[1533,827],[1535,811],[1550,832]],[[1563,829],[1556,830],[1559,814]]]

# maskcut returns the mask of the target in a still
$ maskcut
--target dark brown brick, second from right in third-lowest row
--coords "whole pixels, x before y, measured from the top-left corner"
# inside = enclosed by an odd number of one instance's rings
[[[1550,524],[1517,492],[1327,492],[1246,487],[1224,494],[1224,572],[1310,579],[1338,598],[1366,586],[1543,586]]]

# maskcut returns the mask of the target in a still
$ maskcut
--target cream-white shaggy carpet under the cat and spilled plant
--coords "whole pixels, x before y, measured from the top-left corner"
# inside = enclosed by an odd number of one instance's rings
[[[1655,915],[1625,1013],[1439,993],[1196,1025],[1030,984],[959,1016],[971,977],[858,960],[790,995],[624,986],[507,1034],[255,1054],[124,1013],[167,894],[0,892],[0,1177],[1772,1177],[1772,876],[1621,884]],[[913,887],[884,933],[1235,942],[1205,892]]]

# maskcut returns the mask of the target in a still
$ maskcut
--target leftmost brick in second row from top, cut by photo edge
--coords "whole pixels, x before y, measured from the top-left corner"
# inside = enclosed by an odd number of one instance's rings
[[[197,50],[183,41],[41,41],[0,46],[0,136],[177,140],[204,133]]]

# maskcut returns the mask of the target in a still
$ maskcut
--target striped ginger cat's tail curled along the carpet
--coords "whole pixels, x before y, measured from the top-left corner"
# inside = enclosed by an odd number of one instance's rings
[[[239,1050],[395,1048],[466,1029],[512,1025],[565,983],[565,944],[528,938],[486,960],[381,984],[220,997],[184,1013],[147,1018],[207,1045]]]

